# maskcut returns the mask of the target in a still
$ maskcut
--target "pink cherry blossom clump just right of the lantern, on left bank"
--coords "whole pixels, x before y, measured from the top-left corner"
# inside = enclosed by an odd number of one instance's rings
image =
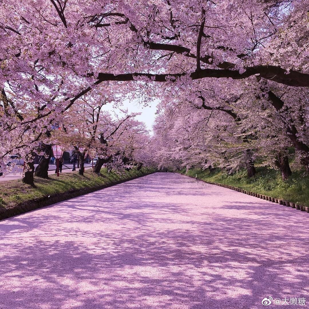
[[[96,173],[103,164],[120,170],[132,163],[142,163],[134,159],[138,160],[136,154],[145,147],[147,138],[149,140],[144,124],[134,119],[136,114],[125,110],[117,109],[119,114],[114,115],[104,111],[104,105],[110,101],[106,91],[92,91],[64,113],[62,129],[53,132],[55,142],[67,149],[73,147],[79,154],[80,175],[83,175],[87,152],[98,157]]]

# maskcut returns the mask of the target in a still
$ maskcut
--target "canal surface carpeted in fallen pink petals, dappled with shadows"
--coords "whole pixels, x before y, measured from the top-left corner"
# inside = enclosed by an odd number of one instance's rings
[[[308,232],[307,213],[155,173],[1,221],[0,308],[309,303]]]

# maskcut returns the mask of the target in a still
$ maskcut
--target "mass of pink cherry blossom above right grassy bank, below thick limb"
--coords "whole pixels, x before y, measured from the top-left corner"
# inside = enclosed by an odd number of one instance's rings
[[[208,167],[207,163],[231,171],[245,167],[248,176],[254,175],[255,166],[265,165],[280,169],[287,179],[291,173],[287,149],[294,147],[296,158],[308,169],[306,89],[285,86],[283,94],[282,90],[266,88],[256,78],[179,87],[177,97],[161,102],[155,126],[155,140],[163,139],[159,157],[165,165],[172,159],[182,167]],[[284,112],[269,98],[275,92],[287,98]],[[255,158],[259,164],[254,164]]]

